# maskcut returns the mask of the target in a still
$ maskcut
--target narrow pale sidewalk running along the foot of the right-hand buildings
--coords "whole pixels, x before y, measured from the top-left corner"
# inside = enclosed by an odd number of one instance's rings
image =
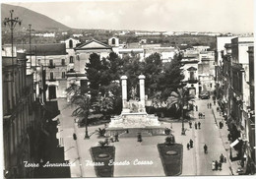
[[[212,112],[215,116],[216,125],[219,128],[220,137],[223,141],[223,146],[225,149],[225,155],[226,155],[226,159],[227,159],[226,162],[229,164],[229,169],[230,169],[232,175],[238,175],[237,169],[240,167],[239,160],[231,161],[231,159],[230,159],[230,146],[229,145],[231,143],[227,139],[227,135],[228,135],[229,131],[228,131],[227,125],[224,121],[224,117],[222,115],[220,115],[220,112],[217,111],[217,107],[218,107],[218,104],[213,105]],[[219,122],[223,122],[223,124],[224,124],[224,127],[222,129],[219,126]],[[234,149],[232,149],[232,150],[234,150]]]

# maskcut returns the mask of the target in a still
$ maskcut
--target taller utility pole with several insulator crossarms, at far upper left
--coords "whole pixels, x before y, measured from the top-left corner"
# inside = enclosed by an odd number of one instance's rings
[[[14,29],[17,24],[22,25],[22,21],[17,17],[13,18],[14,10],[10,10],[11,18],[4,19],[4,26],[8,26],[11,30],[11,43],[12,43],[12,66],[14,65]]]

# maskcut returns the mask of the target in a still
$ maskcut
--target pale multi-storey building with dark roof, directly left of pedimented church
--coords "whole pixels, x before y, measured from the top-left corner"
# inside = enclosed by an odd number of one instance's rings
[[[68,54],[64,43],[23,44],[17,45],[17,49],[25,50],[28,55],[27,69],[34,72],[37,93],[43,69],[47,87],[46,100],[66,96]]]

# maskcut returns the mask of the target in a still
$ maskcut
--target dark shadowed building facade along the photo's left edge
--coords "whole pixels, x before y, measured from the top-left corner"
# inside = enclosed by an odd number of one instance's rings
[[[8,178],[33,176],[24,161],[38,162],[41,118],[33,99],[33,75],[27,74],[24,52],[2,47],[4,172]]]

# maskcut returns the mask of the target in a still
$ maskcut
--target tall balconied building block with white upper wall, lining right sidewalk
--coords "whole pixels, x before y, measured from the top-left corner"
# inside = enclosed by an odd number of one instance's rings
[[[255,168],[253,41],[253,37],[234,37],[224,44],[217,88],[232,141],[239,141],[233,148],[244,173]]]

